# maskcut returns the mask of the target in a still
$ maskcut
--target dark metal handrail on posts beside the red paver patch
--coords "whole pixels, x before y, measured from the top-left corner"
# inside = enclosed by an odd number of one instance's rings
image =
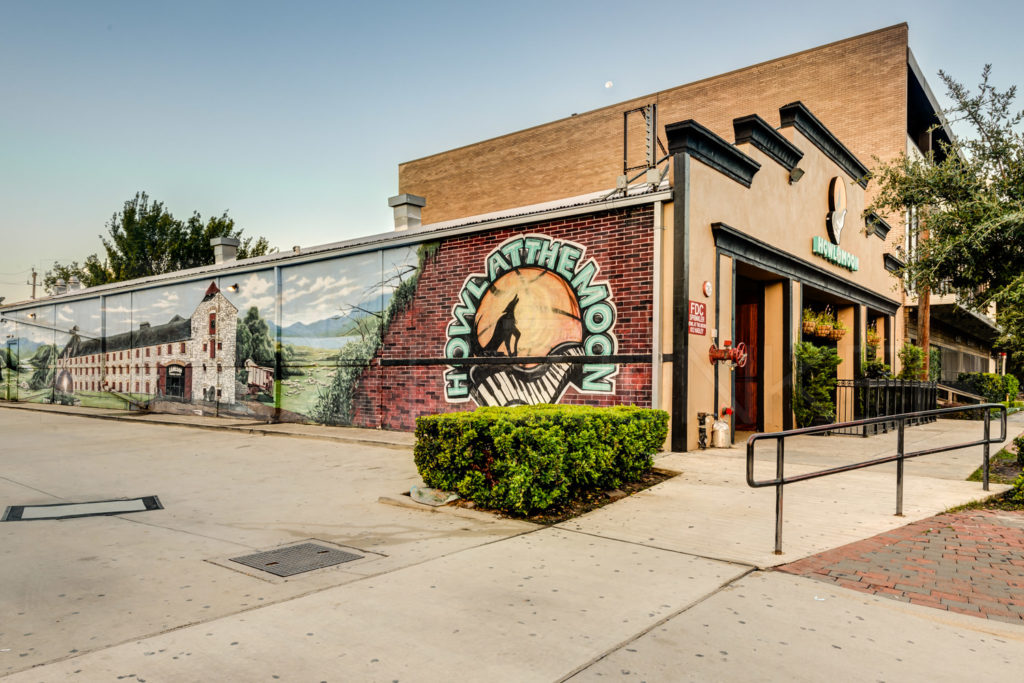
[[[999,424],[1001,425],[1001,433],[997,439],[991,438],[991,420],[992,420],[992,410],[999,411]],[[971,441],[969,443],[957,443],[955,445],[940,446],[937,449],[923,449],[921,451],[911,451],[910,453],[905,452],[904,447],[904,433],[906,430],[906,424],[908,422],[918,423],[922,419],[931,418],[933,416],[941,415],[951,415],[953,413],[965,413],[972,411],[982,411],[984,421],[984,437]],[[859,463],[852,463],[850,465],[841,465],[839,467],[829,467],[827,469],[818,470],[816,472],[805,472],[803,474],[796,474],[792,476],[785,476],[785,439],[787,436],[803,436],[806,434],[818,434],[821,432],[836,431],[839,429],[845,429],[849,427],[861,427],[866,425],[871,425],[880,422],[896,422],[897,437],[896,437],[896,454],[891,456],[884,456],[882,458],[873,458],[871,460],[865,460]],[[768,439],[775,440],[775,478],[774,479],[762,479],[758,481],[754,478],[754,444],[758,441],[764,441]],[[830,474],[839,474],[840,472],[850,472],[852,470],[859,470],[865,467],[873,467],[874,465],[884,465],[885,463],[896,463],[896,514],[898,516],[903,516],[903,461],[908,458],[920,458],[921,456],[930,456],[936,453],[946,453],[948,451],[958,451],[959,449],[970,449],[976,445],[982,446],[982,488],[988,490],[988,465],[989,465],[989,445],[992,443],[1001,443],[1007,439],[1007,407],[1002,403],[983,403],[981,405],[957,405],[953,408],[939,408],[931,411],[919,411],[916,413],[903,413],[900,415],[889,415],[877,418],[867,418],[864,420],[854,420],[852,422],[840,422],[830,425],[818,425],[815,427],[803,427],[801,429],[790,429],[781,432],[770,432],[765,434],[754,434],[749,439],[746,439],[746,484],[753,488],[763,488],[765,486],[775,486],[775,554],[782,554],[782,488],[787,483],[796,483],[797,481],[805,481],[807,479],[816,479],[818,477],[828,476]]]

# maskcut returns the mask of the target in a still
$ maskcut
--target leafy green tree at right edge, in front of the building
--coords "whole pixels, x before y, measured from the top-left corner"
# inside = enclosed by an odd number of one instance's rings
[[[996,89],[990,73],[986,65],[971,91],[939,72],[953,101],[946,117],[968,135],[944,144],[942,161],[929,154],[881,165],[870,210],[919,211],[928,239],[905,252],[902,274],[975,310],[996,303],[997,343],[1024,369],[1024,112],[1013,110],[1016,87]]]

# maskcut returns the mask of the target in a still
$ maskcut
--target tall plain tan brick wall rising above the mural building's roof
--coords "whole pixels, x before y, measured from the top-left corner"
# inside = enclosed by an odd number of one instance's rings
[[[778,125],[779,106],[801,100],[871,166],[906,145],[906,50],[907,26],[889,27],[407,162],[398,191],[426,197],[423,222],[431,223],[610,188],[622,172],[622,113],[649,102],[663,141],[666,124],[686,119],[731,141],[734,118],[758,114]]]

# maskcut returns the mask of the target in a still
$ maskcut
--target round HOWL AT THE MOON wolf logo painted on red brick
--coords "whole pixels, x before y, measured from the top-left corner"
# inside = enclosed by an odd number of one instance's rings
[[[615,306],[607,282],[586,248],[545,234],[510,239],[466,278],[452,307],[444,356],[444,396],[479,405],[557,402],[572,385],[583,393],[613,393]],[[587,362],[559,362],[586,356]],[[468,358],[521,362],[459,364]],[[583,358],[581,358],[583,359]],[[594,360],[591,362],[591,360]]]

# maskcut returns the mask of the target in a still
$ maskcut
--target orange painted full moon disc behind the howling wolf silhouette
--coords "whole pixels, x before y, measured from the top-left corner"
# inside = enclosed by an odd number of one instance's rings
[[[498,319],[517,296],[516,355],[547,355],[561,343],[583,342],[580,304],[568,283],[544,268],[519,268],[499,278],[480,299],[476,338],[481,346],[490,342]],[[504,346],[501,352],[506,352]]]

